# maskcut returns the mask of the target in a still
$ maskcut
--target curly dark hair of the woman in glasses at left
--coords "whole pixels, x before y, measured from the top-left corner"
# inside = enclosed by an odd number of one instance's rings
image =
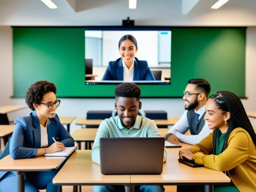
[[[26,92],[25,101],[28,107],[34,111],[35,108],[33,106],[34,103],[40,104],[43,99],[44,94],[48,92],[57,93],[57,88],[54,83],[48,81],[37,81],[28,88]]]

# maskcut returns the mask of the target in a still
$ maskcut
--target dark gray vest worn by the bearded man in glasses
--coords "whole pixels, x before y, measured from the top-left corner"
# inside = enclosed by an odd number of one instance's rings
[[[204,116],[205,116],[205,112],[196,123],[195,110],[192,109],[187,112],[188,127],[191,135],[198,135],[200,133],[200,131],[205,125]]]

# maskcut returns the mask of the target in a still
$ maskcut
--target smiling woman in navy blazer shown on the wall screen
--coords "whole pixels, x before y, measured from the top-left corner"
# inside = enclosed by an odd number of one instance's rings
[[[132,35],[124,35],[119,40],[118,50],[121,57],[116,61],[109,61],[102,80],[155,81],[147,61],[140,61],[135,57],[138,47],[137,40]]]

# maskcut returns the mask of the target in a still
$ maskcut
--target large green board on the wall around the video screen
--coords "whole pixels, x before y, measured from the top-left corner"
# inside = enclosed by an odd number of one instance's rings
[[[59,98],[114,97],[116,85],[85,85],[84,44],[84,27],[14,27],[13,97],[38,80]],[[245,47],[246,28],[172,28],[171,85],[141,85],[142,97],[182,97],[191,78],[245,97]]]

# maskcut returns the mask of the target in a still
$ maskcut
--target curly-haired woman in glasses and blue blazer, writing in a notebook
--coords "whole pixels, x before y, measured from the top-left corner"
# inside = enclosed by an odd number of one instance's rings
[[[13,159],[35,158],[74,146],[73,138],[55,114],[60,104],[60,100],[56,99],[56,92],[54,83],[48,81],[37,81],[28,88],[25,100],[33,112],[14,122],[15,128],[10,141],[10,156]],[[52,137],[59,142],[54,142]],[[57,172],[57,169],[26,172],[25,192],[38,192],[38,189],[60,191],[60,186],[52,183]],[[0,191],[16,191],[15,173],[0,172],[0,178]]]

